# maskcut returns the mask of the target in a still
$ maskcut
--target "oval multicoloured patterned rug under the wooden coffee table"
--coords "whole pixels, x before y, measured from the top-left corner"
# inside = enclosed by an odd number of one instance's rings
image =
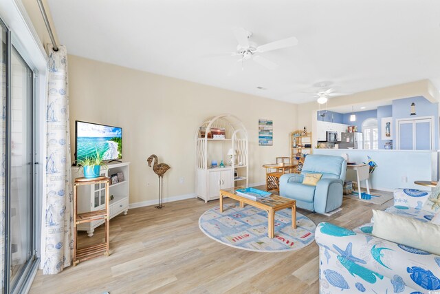
[[[316,224],[296,212],[297,229],[292,228],[292,210],[275,213],[275,238],[267,237],[267,213],[250,205],[214,207],[199,218],[199,227],[208,237],[238,249],[284,252],[301,249],[315,240]]]

